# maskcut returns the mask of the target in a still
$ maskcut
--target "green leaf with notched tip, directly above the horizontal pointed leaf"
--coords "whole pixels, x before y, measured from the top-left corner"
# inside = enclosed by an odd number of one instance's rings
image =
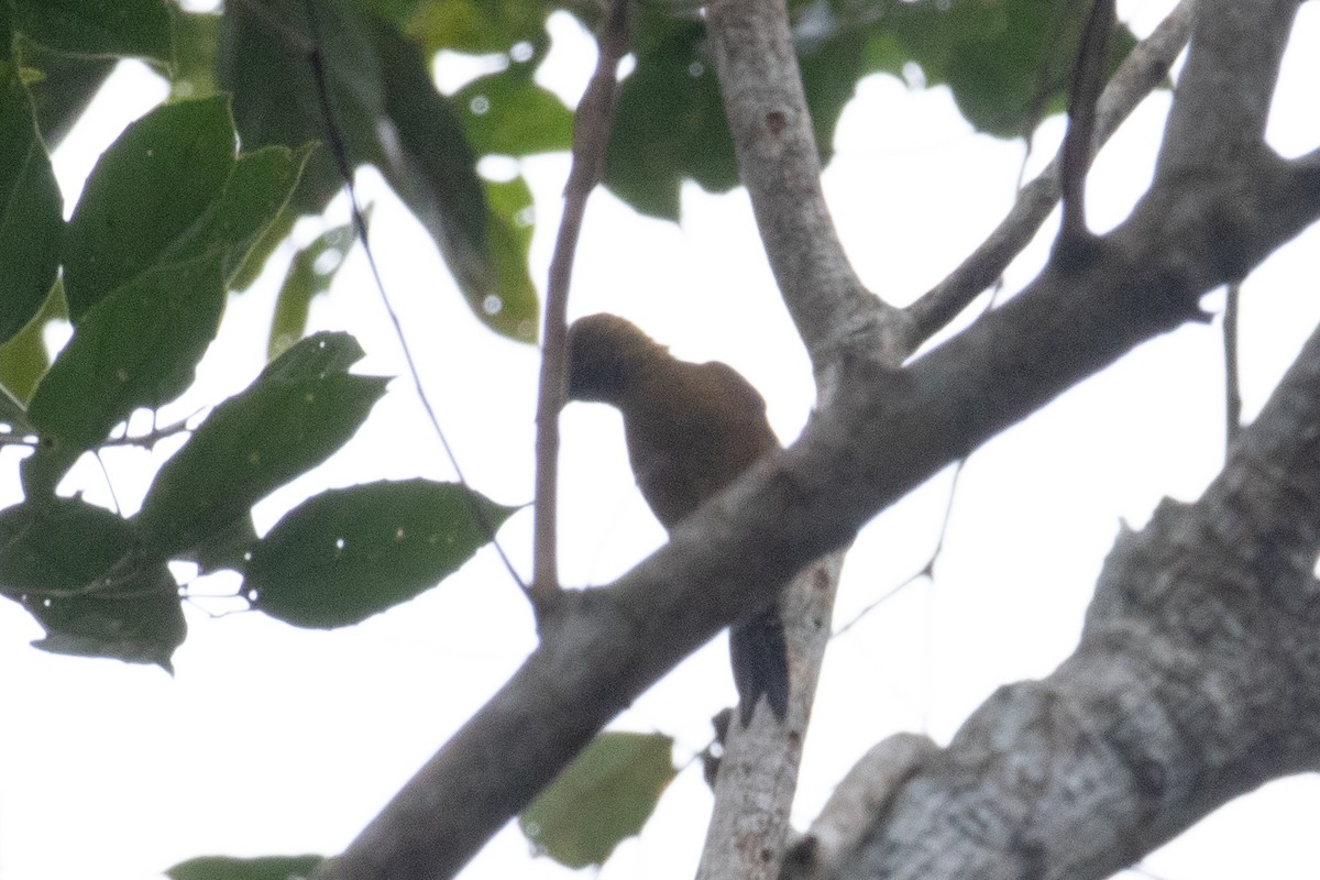
[[[186,553],[347,442],[388,383],[345,372],[362,354],[347,334],[308,336],[216,406],[156,475],[136,517],[144,544]]]

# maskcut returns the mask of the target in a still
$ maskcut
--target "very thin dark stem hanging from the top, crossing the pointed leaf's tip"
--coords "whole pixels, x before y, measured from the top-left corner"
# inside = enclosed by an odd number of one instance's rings
[[[404,355],[404,364],[408,368],[408,377],[412,381],[413,391],[417,393],[417,400],[421,401],[421,408],[426,413],[426,418],[430,421],[432,430],[434,430],[436,437],[440,438],[440,445],[445,450],[445,456],[449,459],[450,467],[454,468],[454,475],[465,488],[470,489],[471,484],[467,482],[467,478],[463,476],[463,468],[458,464],[458,456],[454,454],[454,449],[449,445],[449,438],[445,437],[445,429],[440,426],[440,417],[436,414],[436,408],[432,405],[430,397],[426,394],[426,389],[421,384],[421,373],[417,369],[417,361],[413,359],[412,347],[408,344],[408,336],[404,334],[403,322],[399,321],[399,313],[389,301],[389,294],[385,293],[384,281],[380,278],[380,268],[376,265],[376,255],[372,252],[371,244],[367,241],[367,218],[360,203],[358,202],[358,190],[352,182],[352,162],[348,160],[348,148],[343,141],[343,135],[335,121],[334,108],[330,103],[329,77],[326,75],[325,57],[321,54],[321,32],[317,26],[314,8],[314,0],[304,0],[308,28],[310,29],[313,37],[312,46],[308,50],[308,65],[312,67],[312,79],[315,86],[317,103],[319,104],[321,117],[325,121],[326,145],[330,149],[330,154],[334,157],[335,168],[339,172],[339,178],[343,181],[345,191],[348,194],[348,211],[352,218],[354,235],[359,241],[362,241],[362,251],[367,256],[367,267],[371,269],[371,278],[375,282],[376,293],[380,296],[380,302],[385,309],[385,314],[389,317],[391,327],[395,331],[395,339],[399,340],[399,348]],[[504,548],[500,546],[499,540],[495,537],[495,522],[491,520],[490,513],[475,496],[467,495],[466,497],[473,516],[480,524],[482,530],[491,542],[491,546],[495,548],[495,553],[499,555],[500,562],[504,563],[504,567],[508,570],[513,583],[527,592],[527,584],[523,583],[523,578],[519,577],[517,569],[513,567],[508,554],[504,553]]]

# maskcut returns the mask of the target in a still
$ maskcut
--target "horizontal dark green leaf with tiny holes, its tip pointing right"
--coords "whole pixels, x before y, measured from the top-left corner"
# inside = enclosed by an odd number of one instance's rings
[[[516,508],[457,483],[404,480],[322,492],[252,549],[255,607],[296,627],[345,627],[449,577]]]

